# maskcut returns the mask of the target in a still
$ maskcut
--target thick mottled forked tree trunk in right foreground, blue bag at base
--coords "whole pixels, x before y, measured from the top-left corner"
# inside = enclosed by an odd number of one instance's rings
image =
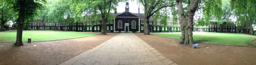
[[[194,43],[193,39],[193,19],[195,15],[196,8],[198,6],[199,0],[192,0],[191,3],[189,3],[189,7],[187,10],[187,15],[185,16],[182,0],[176,0],[177,8],[178,8],[178,16],[179,21],[181,24],[181,31],[182,36],[180,37],[180,43],[186,45],[186,44],[192,44]]]

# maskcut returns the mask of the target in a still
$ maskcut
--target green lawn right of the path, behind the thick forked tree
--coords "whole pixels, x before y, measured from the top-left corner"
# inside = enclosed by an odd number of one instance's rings
[[[166,38],[180,39],[181,33],[156,33],[152,35]],[[195,42],[231,45],[231,46],[256,46],[252,41],[256,38],[238,33],[193,32]]]

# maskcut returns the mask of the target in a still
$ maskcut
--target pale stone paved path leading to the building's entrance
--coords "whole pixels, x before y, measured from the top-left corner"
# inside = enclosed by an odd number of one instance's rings
[[[133,33],[120,33],[60,65],[177,65]]]

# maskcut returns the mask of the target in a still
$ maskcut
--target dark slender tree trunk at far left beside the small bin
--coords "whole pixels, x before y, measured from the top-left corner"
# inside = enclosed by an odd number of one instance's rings
[[[16,35],[16,42],[13,44],[13,46],[23,46],[22,43],[22,28],[23,28],[23,23],[25,22],[24,20],[24,15],[25,15],[25,5],[24,2],[26,0],[21,0],[19,2],[20,4],[20,9],[19,9],[19,17],[17,20],[17,35]]]

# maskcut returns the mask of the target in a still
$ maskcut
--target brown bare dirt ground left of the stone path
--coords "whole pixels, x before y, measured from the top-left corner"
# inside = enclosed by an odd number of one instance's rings
[[[25,46],[22,47],[11,47],[13,43],[0,43],[0,46],[3,46],[0,47],[0,65],[58,65],[117,34],[119,33],[46,42],[24,42]]]

